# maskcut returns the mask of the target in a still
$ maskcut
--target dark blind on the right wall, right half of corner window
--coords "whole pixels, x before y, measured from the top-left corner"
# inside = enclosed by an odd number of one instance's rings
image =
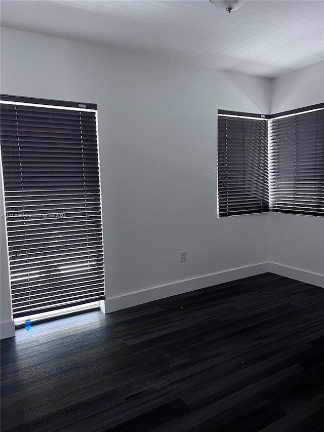
[[[324,110],[269,121],[270,211],[324,216]]]

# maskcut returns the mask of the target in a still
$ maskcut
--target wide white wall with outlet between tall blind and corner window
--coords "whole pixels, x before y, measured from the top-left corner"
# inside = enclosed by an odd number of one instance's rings
[[[268,113],[270,86],[264,78],[2,30],[2,93],[98,104],[109,310],[130,304],[111,297],[149,290],[131,303],[151,300],[222,282],[224,274],[191,288],[168,284],[268,261],[267,215],[217,219],[216,115],[218,108]],[[162,288],[152,294],[154,287]]]

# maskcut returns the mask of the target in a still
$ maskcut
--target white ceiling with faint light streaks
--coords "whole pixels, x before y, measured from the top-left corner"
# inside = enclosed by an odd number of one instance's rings
[[[215,0],[217,1],[217,0]],[[275,77],[324,59],[324,1],[2,0],[1,25]]]

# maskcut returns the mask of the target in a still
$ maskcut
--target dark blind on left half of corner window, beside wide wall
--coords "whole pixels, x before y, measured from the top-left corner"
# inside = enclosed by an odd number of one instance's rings
[[[266,120],[218,115],[218,216],[269,211]]]

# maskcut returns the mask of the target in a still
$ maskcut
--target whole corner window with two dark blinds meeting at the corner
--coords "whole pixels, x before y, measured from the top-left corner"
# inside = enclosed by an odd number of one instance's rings
[[[218,216],[324,216],[324,104],[218,113]]]

